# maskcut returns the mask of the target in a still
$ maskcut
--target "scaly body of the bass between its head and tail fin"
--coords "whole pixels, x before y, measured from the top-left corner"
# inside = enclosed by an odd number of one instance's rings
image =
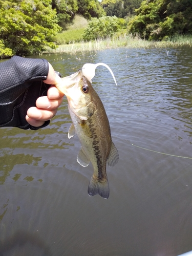
[[[87,120],[81,120],[73,113],[70,114],[82,148],[93,164],[95,176],[105,177],[106,160],[112,143],[110,125],[103,104],[95,91],[92,91],[92,98],[96,107],[92,116]]]

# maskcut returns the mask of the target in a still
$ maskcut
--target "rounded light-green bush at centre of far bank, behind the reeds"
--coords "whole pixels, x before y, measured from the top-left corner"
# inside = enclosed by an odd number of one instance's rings
[[[124,28],[125,20],[116,16],[103,16],[101,18],[92,18],[88,27],[84,31],[84,40],[94,40],[98,38],[111,37],[120,29]]]

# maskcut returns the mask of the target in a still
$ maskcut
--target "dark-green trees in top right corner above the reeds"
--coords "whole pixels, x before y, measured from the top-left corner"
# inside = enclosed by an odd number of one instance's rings
[[[166,40],[176,34],[192,33],[191,0],[145,0],[136,13],[128,30],[142,38]]]

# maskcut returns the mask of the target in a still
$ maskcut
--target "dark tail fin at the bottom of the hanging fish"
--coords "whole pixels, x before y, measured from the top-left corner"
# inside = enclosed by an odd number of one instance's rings
[[[100,195],[104,199],[108,199],[110,196],[110,187],[108,183],[108,178],[99,181],[95,179],[93,176],[91,177],[89,186],[88,186],[88,195],[90,197],[95,195]]]

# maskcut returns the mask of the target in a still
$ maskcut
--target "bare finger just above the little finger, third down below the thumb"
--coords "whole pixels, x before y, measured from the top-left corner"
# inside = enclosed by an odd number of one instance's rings
[[[40,120],[40,121],[47,121],[53,118],[57,113],[57,110],[42,110],[38,109],[35,106],[32,106],[28,109],[27,115],[28,117]]]

